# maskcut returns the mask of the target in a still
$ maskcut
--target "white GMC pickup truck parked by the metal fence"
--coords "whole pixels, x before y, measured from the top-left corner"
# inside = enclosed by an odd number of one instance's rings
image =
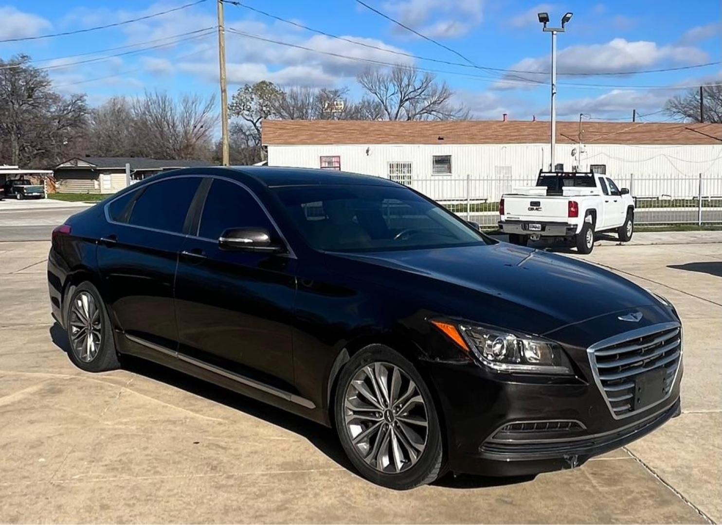
[[[606,175],[592,172],[539,172],[536,186],[514,188],[499,202],[499,229],[509,241],[565,237],[580,253],[590,253],[594,234],[616,231],[619,240],[632,239],[634,199]]]

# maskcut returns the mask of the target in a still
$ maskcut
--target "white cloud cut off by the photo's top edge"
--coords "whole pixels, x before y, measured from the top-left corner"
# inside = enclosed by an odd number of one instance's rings
[[[484,0],[400,0],[383,5],[390,16],[399,19],[430,38],[458,38],[479,25],[484,17]],[[393,25],[397,35],[412,37],[403,27]]]

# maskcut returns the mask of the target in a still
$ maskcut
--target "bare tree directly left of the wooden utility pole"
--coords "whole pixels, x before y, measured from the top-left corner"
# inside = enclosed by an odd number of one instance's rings
[[[215,96],[186,94],[176,102],[165,92],[146,92],[131,103],[136,151],[157,159],[208,158],[217,123]]]

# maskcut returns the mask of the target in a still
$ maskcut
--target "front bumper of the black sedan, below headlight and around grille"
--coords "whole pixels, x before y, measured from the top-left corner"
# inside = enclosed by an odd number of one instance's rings
[[[650,310],[645,314],[653,318]],[[591,337],[599,337],[603,328],[590,324]],[[577,328],[565,329],[563,339],[572,338]],[[681,358],[666,397],[619,417],[596,384],[587,346],[565,347],[575,376],[499,374],[476,363],[427,363],[425,372],[443,413],[451,470],[517,476],[573,468],[679,415]]]

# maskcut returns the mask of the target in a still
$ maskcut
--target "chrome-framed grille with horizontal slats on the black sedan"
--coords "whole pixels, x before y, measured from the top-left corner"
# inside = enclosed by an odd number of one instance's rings
[[[682,327],[663,325],[633,330],[589,349],[595,378],[615,418],[637,413],[669,397],[682,356]],[[661,370],[658,400],[638,406],[638,379]],[[648,400],[649,401],[649,400]]]

